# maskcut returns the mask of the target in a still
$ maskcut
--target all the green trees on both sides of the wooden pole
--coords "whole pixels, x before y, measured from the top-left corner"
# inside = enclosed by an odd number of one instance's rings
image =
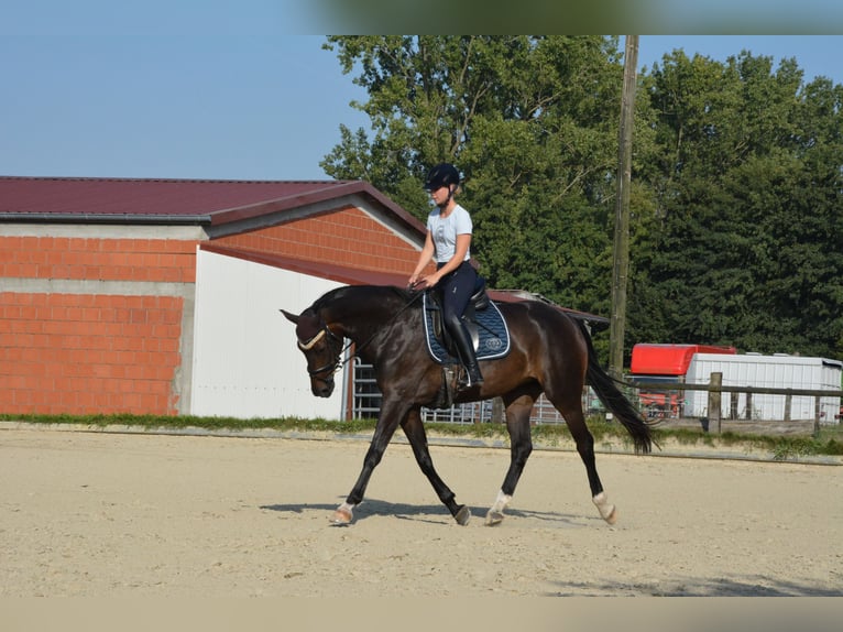
[[[456,163],[490,286],[611,315],[623,66],[600,36],[330,36],[369,99],[322,166],[424,219]],[[843,357],[843,87],[675,51],[638,78],[626,350]],[[595,340],[599,350],[605,340]]]

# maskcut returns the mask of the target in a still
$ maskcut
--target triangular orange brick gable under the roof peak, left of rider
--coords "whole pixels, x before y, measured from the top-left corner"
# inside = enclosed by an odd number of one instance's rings
[[[418,260],[418,251],[409,243],[354,207],[222,237],[214,243],[362,270],[406,271],[407,275]]]

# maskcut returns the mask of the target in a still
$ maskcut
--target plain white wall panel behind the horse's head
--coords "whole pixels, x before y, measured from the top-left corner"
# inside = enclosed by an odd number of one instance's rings
[[[330,397],[316,397],[295,326],[278,312],[298,314],[340,285],[199,250],[190,414],[340,418],[343,372]]]

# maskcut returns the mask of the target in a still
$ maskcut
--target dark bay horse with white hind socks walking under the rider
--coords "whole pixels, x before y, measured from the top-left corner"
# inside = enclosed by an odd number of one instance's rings
[[[455,403],[501,396],[511,439],[510,469],[494,504],[486,514],[489,525],[500,523],[515,493],[527,458],[533,451],[529,416],[544,392],[565,417],[585,465],[591,498],[610,524],[617,517],[615,506],[603,491],[594,465],[594,438],[585,426],[582,391],[588,383],[614,418],[632,437],[636,453],[649,453],[650,427],[600,367],[585,325],[540,301],[497,304],[510,327],[511,350],[501,359],[482,362],[485,381],[458,392]],[[374,368],[383,394],[381,414],[363,459],[363,469],[346,502],[333,512],[335,524],[349,524],[353,510],[363,500],[366,486],[381,461],[395,429],[401,426],[418,466],[439,500],[459,524],[471,512],[458,504],[450,488],[434,469],[421,422],[421,406],[437,401],[442,388],[442,367],[434,361],[424,340],[423,307],[418,293],[393,286],[347,286],[332,290],[296,316],[298,348],[307,359],[314,395],[333,392],[333,374],[341,366],[343,338],[355,345],[355,353]]]

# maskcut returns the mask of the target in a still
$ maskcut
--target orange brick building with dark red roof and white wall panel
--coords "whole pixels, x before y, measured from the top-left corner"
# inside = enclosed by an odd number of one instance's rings
[[[404,285],[424,236],[358,181],[0,177],[0,412],[349,416],[278,309]]]

